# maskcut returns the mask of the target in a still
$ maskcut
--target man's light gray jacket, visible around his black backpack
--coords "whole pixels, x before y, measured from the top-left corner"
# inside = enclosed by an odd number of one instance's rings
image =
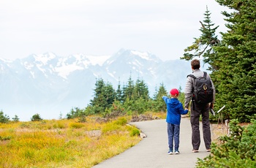
[[[200,69],[195,69],[195,70],[193,70],[192,75],[194,75],[195,77],[203,77],[203,72],[200,71]],[[210,75],[208,75],[208,73],[207,73],[206,78],[207,77],[210,78],[210,80],[211,80],[211,77],[210,77]],[[194,83],[195,83],[194,78],[187,77],[186,87],[185,87],[185,91],[184,91],[184,93],[185,93],[184,107],[185,108],[189,108],[189,102],[191,100]],[[212,80],[211,80],[211,85],[212,85],[212,88],[214,90],[214,99],[211,103],[214,103],[215,102],[215,92],[216,91],[215,91],[214,83],[212,82]]]

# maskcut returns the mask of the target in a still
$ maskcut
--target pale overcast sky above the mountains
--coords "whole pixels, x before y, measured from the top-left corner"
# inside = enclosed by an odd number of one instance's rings
[[[206,6],[217,34],[225,31],[225,8],[214,0],[0,0],[0,58],[110,56],[123,48],[179,59],[200,37]]]

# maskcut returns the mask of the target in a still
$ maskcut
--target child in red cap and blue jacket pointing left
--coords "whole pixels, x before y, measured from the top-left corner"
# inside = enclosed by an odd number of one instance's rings
[[[162,96],[162,99],[165,100],[165,104],[167,106],[167,134],[168,134],[168,145],[169,152],[168,155],[173,154],[173,139],[175,142],[174,151],[175,154],[179,154],[178,146],[179,146],[179,132],[180,132],[180,123],[181,123],[181,115],[187,114],[189,110],[184,110],[181,102],[178,101],[178,90],[173,88],[170,90],[171,99],[167,96]]]

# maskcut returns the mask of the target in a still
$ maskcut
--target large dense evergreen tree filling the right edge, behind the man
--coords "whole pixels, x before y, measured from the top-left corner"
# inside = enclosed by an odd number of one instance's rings
[[[225,114],[249,121],[256,111],[256,1],[216,0],[220,5],[233,9],[222,12],[228,31],[222,33],[221,45],[214,47],[218,54],[214,72],[218,104],[226,105]]]

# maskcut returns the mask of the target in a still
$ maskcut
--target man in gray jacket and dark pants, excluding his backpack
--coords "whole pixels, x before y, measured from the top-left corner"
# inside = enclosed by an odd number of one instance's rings
[[[191,61],[192,67],[192,75],[195,77],[203,77],[203,72],[200,71],[200,61],[194,59]],[[206,78],[211,80],[211,77],[207,74]],[[195,80],[193,77],[187,77],[187,83],[185,87],[185,109],[189,108],[190,99],[192,99],[192,91],[194,88]],[[200,131],[199,131],[199,118],[202,115],[202,123],[203,123],[203,140],[206,145],[206,150],[208,152],[211,151],[211,129],[210,129],[210,121],[209,121],[209,108],[214,108],[215,102],[215,88],[214,83],[211,80],[211,85],[213,88],[213,101],[211,103],[197,103],[193,101],[191,103],[191,116],[190,123],[192,126],[192,152],[197,153],[200,146]]]

